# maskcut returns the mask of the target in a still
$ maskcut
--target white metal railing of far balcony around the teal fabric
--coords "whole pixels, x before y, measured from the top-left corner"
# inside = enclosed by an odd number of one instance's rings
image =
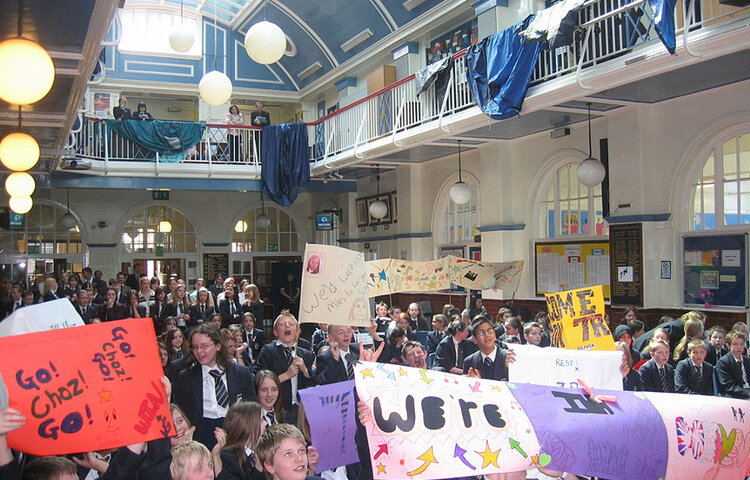
[[[83,117],[79,130],[71,132],[76,155],[92,160],[154,161],[161,163],[242,164],[259,166],[261,129],[207,124],[201,140],[174,155],[160,155],[110,131],[99,118]]]

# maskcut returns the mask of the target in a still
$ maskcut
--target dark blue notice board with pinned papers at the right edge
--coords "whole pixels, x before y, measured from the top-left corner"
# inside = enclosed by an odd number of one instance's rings
[[[683,237],[683,303],[748,307],[748,234]]]

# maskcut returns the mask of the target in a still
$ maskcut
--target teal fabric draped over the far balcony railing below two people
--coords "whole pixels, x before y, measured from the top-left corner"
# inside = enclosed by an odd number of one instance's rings
[[[200,142],[205,123],[167,120],[106,120],[110,131],[160,155],[180,153]]]

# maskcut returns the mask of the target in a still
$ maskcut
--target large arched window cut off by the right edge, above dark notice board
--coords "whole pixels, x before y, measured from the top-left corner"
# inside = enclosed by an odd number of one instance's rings
[[[750,133],[717,139],[693,180],[690,230],[750,224]]]

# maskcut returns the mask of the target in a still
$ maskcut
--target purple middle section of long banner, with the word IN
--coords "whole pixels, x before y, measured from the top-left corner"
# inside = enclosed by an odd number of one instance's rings
[[[542,465],[612,480],[665,477],[667,432],[645,396],[597,390],[617,397],[616,403],[597,403],[578,389],[513,386],[539,438]]]

